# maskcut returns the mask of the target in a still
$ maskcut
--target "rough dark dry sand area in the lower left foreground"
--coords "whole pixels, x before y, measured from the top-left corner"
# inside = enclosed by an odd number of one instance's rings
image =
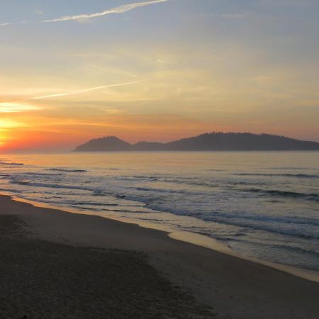
[[[147,256],[60,245],[0,216],[0,318],[215,318],[174,287]]]

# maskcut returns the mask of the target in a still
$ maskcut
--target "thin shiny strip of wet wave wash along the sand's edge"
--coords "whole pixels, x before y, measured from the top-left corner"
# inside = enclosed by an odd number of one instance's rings
[[[303,269],[298,267],[293,267],[287,264],[279,264],[275,262],[269,262],[267,260],[257,259],[254,257],[246,257],[242,254],[238,254],[237,252],[233,251],[223,242],[219,242],[218,240],[215,240],[214,238],[209,237],[208,235],[203,235],[199,233],[191,233],[186,230],[173,230],[169,227],[157,223],[152,223],[150,221],[145,220],[135,220],[133,218],[118,218],[116,216],[113,216],[111,214],[103,213],[99,214],[99,212],[89,212],[86,211],[85,213],[82,211],[77,210],[76,208],[60,208],[58,206],[50,205],[47,203],[38,203],[36,201],[29,201],[23,198],[15,197],[14,195],[7,195],[0,193],[0,196],[10,196],[13,201],[18,201],[21,203],[29,203],[30,205],[33,205],[35,207],[39,208],[49,208],[59,211],[64,211],[66,213],[74,213],[79,215],[85,215],[85,216],[99,216],[101,218],[111,219],[111,220],[117,220],[121,223],[128,223],[130,225],[138,225],[141,228],[148,228],[152,230],[158,230],[161,232],[164,232],[167,234],[168,237],[179,240],[181,242],[187,242],[191,245],[197,245],[199,247],[208,248],[210,250],[216,250],[217,252],[221,252],[223,254],[228,254],[230,256],[236,257],[238,259],[247,260],[250,262],[254,262],[257,264],[262,264],[266,267],[270,267],[272,269],[279,270],[281,272],[285,272],[286,274],[291,274],[293,276],[297,276],[302,279],[306,279],[309,281],[314,281],[316,283],[319,283],[319,272],[315,272],[311,269]]]

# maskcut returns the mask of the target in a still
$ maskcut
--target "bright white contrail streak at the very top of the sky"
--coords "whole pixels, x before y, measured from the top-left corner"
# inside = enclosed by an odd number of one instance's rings
[[[159,4],[160,2],[167,2],[169,0],[154,0],[154,1],[147,1],[147,2],[136,2],[135,4],[124,4],[123,6],[117,6],[113,9],[108,9],[106,11],[91,13],[91,14],[79,14],[78,16],[62,16],[60,18],[55,18],[52,20],[43,20],[42,22],[60,22],[60,21],[81,21],[87,20],[91,18],[96,18],[99,16],[106,16],[107,14],[114,14],[114,13],[124,13],[140,6],[150,6],[150,4]]]

